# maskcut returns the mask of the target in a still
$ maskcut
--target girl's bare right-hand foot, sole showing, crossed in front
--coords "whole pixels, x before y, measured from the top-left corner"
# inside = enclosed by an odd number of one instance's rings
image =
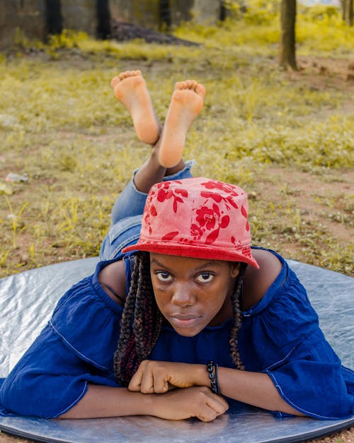
[[[159,163],[173,167],[181,161],[185,137],[203,107],[205,87],[195,80],[176,83],[159,146]]]

